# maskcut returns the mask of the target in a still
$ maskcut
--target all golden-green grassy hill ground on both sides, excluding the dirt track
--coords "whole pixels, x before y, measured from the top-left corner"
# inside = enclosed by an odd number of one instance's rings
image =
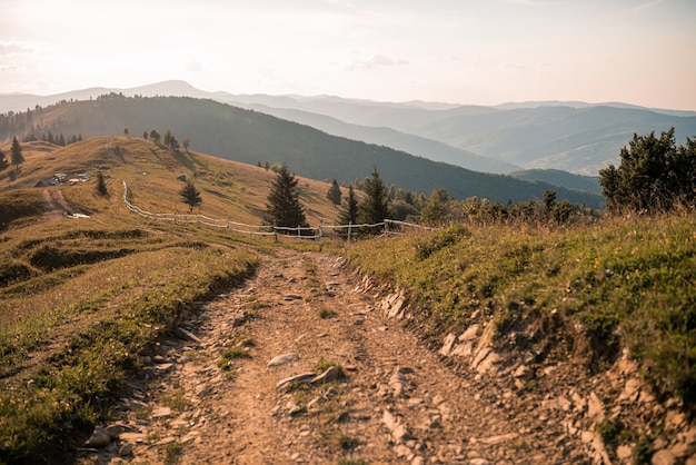
[[[275,247],[347,254],[354,267],[406,291],[430,342],[471,321],[490,324],[496,349],[509,357],[540,364],[560,347],[563,364],[591,373],[612,367],[626,347],[660,396],[694,405],[693,216],[558,229],[457,226],[348,247],[276,245],[143,219],[122,199],[121,179],[139,207],[182,212],[176,177],[197,172],[201,212],[258,224],[275,176],[261,168],[123,136],[23,147],[17,179],[0,178],[2,462],[61,462],[109,415],[125,382],[142,373],[140,357]],[[109,197],[95,195],[98,170]],[[32,187],[54,172],[91,180]],[[328,185],[300,179],[299,187],[310,222],[330,222]],[[47,216],[47,195],[87,217]]]

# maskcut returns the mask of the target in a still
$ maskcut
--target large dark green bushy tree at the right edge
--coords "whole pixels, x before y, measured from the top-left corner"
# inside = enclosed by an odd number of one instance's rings
[[[694,207],[696,200],[696,144],[676,146],[674,127],[655,137],[634,133],[619,154],[618,168],[609,165],[599,171],[607,209],[667,211],[679,202]]]

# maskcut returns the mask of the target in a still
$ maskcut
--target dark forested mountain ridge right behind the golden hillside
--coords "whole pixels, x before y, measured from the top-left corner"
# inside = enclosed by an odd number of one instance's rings
[[[188,97],[127,98],[111,93],[87,101],[64,101],[29,113],[2,116],[0,140],[12,133],[49,130],[67,137],[142,135],[170,130],[191,139],[197,151],[246,164],[287,164],[299,176],[352,182],[377,166],[386,184],[429,194],[446,189],[453,197],[486,197],[494,201],[524,201],[557,190],[558,199],[600,207],[597,195],[528,182],[500,175],[475,172],[435,162],[388,147],[330,136],[309,126],[282,120],[213,100]]]

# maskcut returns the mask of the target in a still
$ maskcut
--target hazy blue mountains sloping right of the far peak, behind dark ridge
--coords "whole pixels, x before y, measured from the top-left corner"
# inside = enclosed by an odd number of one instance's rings
[[[245,105],[262,102],[277,109],[315,112],[351,125],[389,127],[528,169],[559,169],[587,176],[597,176],[608,164],[618,165],[620,148],[634,133],[659,133],[674,126],[679,144],[696,136],[694,111],[626,103],[523,102],[428,109],[337,98],[228,98]]]

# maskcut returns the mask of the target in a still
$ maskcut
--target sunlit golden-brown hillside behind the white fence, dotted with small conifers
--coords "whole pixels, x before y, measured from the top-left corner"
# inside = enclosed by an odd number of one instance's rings
[[[9,151],[9,147],[2,149]],[[73,197],[72,201],[78,206],[84,205],[87,211],[92,209],[89,204],[95,201],[93,179],[101,171],[108,179],[112,197],[122,198],[121,180],[125,180],[135,196],[133,201],[141,208],[152,212],[183,214],[187,207],[178,194],[183,182],[177,177],[186,174],[201,190],[203,198],[200,210],[196,212],[260,225],[266,197],[276,176],[256,166],[198,152],[176,154],[142,138],[125,136],[96,137],[66,147],[29,142],[22,145],[22,154],[26,162],[11,182],[11,188],[8,171],[0,174],[0,192],[8,189],[14,192],[18,188],[40,191],[34,186],[57,172],[68,177],[84,172],[92,178],[91,186],[88,182],[67,186],[62,190],[66,196]],[[329,184],[299,178],[298,188],[301,201],[311,205],[306,211],[311,225],[336,221],[338,210],[326,198]]]

